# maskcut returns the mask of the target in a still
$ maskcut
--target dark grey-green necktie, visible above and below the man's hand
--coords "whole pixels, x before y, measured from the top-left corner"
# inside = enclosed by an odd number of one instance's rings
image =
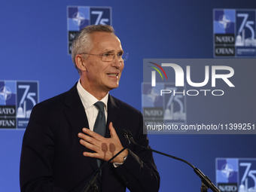
[[[99,113],[96,117],[93,131],[98,133],[101,136],[105,136],[105,111],[104,111],[104,102],[96,102],[94,103],[96,108],[99,109]],[[98,166],[101,165],[101,160],[97,159]]]

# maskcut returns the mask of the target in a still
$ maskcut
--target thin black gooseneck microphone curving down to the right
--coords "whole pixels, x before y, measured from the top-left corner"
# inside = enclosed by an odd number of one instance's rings
[[[189,163],[187,160],[183,160],[181,158],[178,158],[178,157],[175,157],[175,156],[172,156],[172,155],[169,155],[169,154],[165,154],[165,153],[162,153],[160,151],[156,151],[154,149],[151,149],[151,148],[145,148],[143,147],[142,145],[139,145],[138,143],[136,143],[133,139],[133,134],[130,132],[130,131],[126,131],[126,133],[128,134],[128,137],[130,138],[130,140],[137,146],[139,146],[140,148],[144,148],[148,151],[153,151],[157,154],[162,154],[166,157],[171,157],[172,159],[175,159],[175,160],[181,160],[183,161],[184,163],[187,163],[189,166],[191,166],[193,169],[194,169],[194,172],[196,172],[196,174],[201,178],[201,181],[202,181],[202,187],[201,187],[201,192],[206,192],[208,188],[212,189],[213,192],[221,192],[221,190],[219,190],[215,184],[212,183],[211,179],[209,177],[207,177],[206,175],[203,174],[203,172],[200,171],[200,169],[197,169],[194,165],[192,165],[191,163]]]

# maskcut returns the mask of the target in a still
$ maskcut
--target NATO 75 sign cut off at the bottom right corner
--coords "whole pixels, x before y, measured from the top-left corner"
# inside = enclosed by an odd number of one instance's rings
[[[221,191],[256,191],[255,174],[256,159],[216,159],[216,183]]]

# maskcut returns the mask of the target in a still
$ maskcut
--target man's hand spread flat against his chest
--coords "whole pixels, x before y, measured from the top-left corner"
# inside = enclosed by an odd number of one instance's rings
[[[85,134],[78,133],[78,137],[81,139],[81,145],[84,145],[84,147],[90,149],[91,151],[95,151],[94,153],[84,152],[83,154],[85,157],[93,157],[108,161],[111,159],[111,157],[123,149],[112,122],[109,123],[108,129],[110,131],[110,138],[100,136],[87,128],[83,128],[83,132]],[[117,157],[115,157],[114,160],[111,160],[111,163],[123,163],[123,158],[127,155],[128,151],[124,150]]]

